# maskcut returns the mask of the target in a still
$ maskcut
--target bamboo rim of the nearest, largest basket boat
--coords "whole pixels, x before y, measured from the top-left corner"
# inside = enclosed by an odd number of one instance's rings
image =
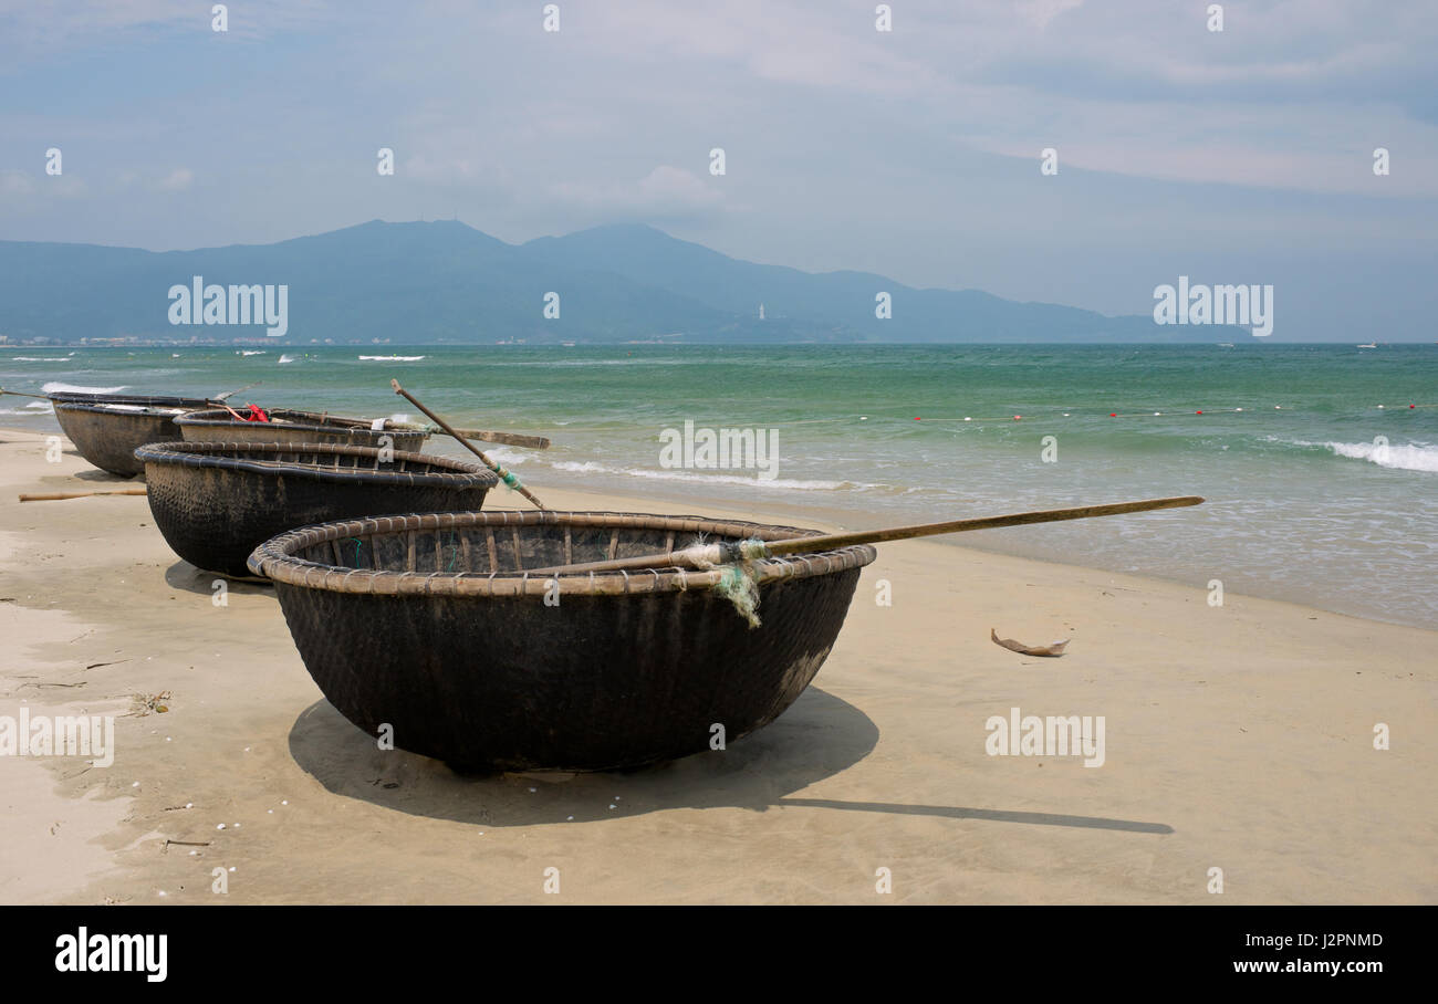
[[[326,593],[371,595],[464,595],[464,597],[541,597],[555,591],[564,595],[633,595],[647,593],[683,593],[690,588],[712,588],[726,574],[725,570],[696,571],[693,568],[644,568],[640,571],[577,572],[572,575],[536,575],[532,571],[496,572],[420,572],[378,568],[347,568],[319,561],[308,561],[296,551],[349,537],[375,534],[404,534],[411,531],[467,529],[475,526],[544,526],[569,525],[587,528],[624,526],[669,529],[677,534],[725,534],[738,538],[787,539],[817,537],[818,529],[756,524],[743,519],[715,519],[709,516],[666,516],[647,512],[588,512],[588,511],[487,511],[487,512],[427,512],[403,516],[368,516],[301,526],[260,544],[250,554],[247,565],[256,575],[275,583]],[[856,544],[835,551],[794,554],[781,558],[761,558],[748,562],[758,585],[779,580],[812,578],[831,572],[863,568],[879,554],[867,544]]]

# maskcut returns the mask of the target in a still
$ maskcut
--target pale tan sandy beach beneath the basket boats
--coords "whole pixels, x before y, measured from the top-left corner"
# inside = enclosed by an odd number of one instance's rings
[[[116,716],[108,768],[0,758],[7,903],[1438,902],[1435,631],[1214,607],[1206,571],[887,544],[814,686],[761,732],[631,774],[467,778],[375,749],[273,591],[216,606],[144,498],[16,501],[112,480],[0,430],[0,715]],[[1022,656],[991,629],[1071,643]],[[1104,762],[989,755],[985,722],[1012,708],[1103,716]]]

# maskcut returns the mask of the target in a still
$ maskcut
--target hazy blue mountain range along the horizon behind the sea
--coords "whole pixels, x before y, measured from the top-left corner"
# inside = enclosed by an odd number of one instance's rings
[[[0,334],[63,341],[255,338],[257,325],[171,325],[171,286],[288,286],[286,341],[1219,341],[978,291],[910,289],[726,257],[646,226],[506,245],[457,222],[371,222],[275,245],[187,252],[0,242]],[[545,318],[558,293],[558,319]],[[893,316],[874,316],[876,295]],[[759,305],[765,318],[759,318]]]

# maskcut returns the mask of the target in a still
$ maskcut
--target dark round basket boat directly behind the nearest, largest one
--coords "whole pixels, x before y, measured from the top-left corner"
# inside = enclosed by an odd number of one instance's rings
[[[150,511],[174,552],[204,571],[247,575],[276,534],[384,512],[479,509],[499,479],[486,467],[367,446],[152,443]],[[388,457],[388,459],[384,459]]]

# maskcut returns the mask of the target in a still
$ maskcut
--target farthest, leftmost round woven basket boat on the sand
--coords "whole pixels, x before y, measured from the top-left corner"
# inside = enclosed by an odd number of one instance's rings
[[[101,470],[132,478],[145,466],[135,450],[175,437],[174,420],[210,401],[127,394],[50,394],[55,419],[81,456]]]

